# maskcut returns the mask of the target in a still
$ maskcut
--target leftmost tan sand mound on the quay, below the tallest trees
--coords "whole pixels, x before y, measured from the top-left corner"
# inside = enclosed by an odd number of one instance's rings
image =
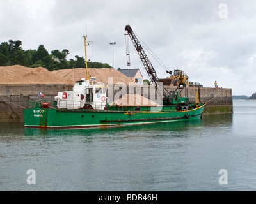
[[[20,65],[0,66],[0,84],[56,84],[72,83],[45,68],[27,68]]]

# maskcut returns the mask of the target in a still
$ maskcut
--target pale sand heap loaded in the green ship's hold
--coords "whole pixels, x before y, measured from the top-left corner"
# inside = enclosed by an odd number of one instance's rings
[[[126,94],[122,96],[122,98],[116,99],[110,103],[110,105],[113,105],[113,103],[118,106],[160,106],[156,102],[139,94]]]

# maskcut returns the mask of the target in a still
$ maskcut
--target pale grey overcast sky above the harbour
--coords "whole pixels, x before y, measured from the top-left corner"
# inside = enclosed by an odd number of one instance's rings
[[[148,78],[125,25],[143,44],[159,78],[182,69],[204,87],[256,92],[256,2],[253,0],[1,0],[0,42],[22,41],[24,50],[44,45],[69,50],[115,69],[139,68]],[[126,43],[131,66],[127,66]],[[115,45],[109,43],[116,42]],[[148,52],[148,48],[162,64]]]

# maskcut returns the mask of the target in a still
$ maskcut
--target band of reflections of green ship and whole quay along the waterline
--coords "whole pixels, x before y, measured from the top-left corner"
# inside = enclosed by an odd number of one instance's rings
[[[161,122],[151,124],[135,124],[126,126],[111,126],[98,128],[81,128],[81,129],[39,129],[24,128],[23,123],[0,123],[0,136],[12,137],[21,136],[116,136],[129,133],[130,135],[172,135],[172,133],[180,133],[185,135],[191,129],[200,127],[232,127],[233,115],[204,115],[202,119],[190,120],[185,122]],[[2,138],[3,139],[3,138]],[[17,138],[16,138],[17,139]]]

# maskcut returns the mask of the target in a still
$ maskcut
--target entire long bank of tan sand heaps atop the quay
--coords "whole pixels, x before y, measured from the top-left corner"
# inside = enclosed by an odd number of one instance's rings
[[[45,68],[27,68],[20,65],[0,66],[0,84],[68,84],[86,78],[85,68],[61,69],[48,71]],[[88,76],[95,77],[97,82],[108,84],[108,78],[113,77],[113,83],[133,83],[132,80],[112,68],[88,68]],[[74,78],[74,80],[73,80]]]

